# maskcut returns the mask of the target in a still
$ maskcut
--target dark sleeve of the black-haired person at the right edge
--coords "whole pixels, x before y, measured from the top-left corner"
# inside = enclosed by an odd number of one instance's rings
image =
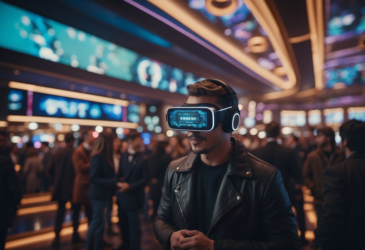
[[[318,220],[318,228],[315,231],[316,238],[321,243],[322,249],[334,249],[338,243],[343,242],[345,226],[345,180],[334,168],[328,168],[324,172],[324,200],[323,212]]]

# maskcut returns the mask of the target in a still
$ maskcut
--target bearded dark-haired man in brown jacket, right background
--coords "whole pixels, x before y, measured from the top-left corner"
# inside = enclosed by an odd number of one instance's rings
[[[322,215],[323,205],[323,174],[326,168],[343,160],[341,152],[336,147],[335,132],[329,127],[317,130],[317,148],[308,153],[303,165],[303,182],[314,196],[314,208],[317,218]],[[318,247],[315,239],[312,247]]]

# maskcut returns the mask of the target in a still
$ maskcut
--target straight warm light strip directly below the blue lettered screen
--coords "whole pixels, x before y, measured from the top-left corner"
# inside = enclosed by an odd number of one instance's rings
[[[39,123],[61,123],[61,124],[78,124],[84,126],[105,126],[112,128],[128,128],[136,129],[138,123],[122,122],[122,121],[104,121],[91,119],[75,119],[75,118],[59,118],[59,117],[43,117],[43,116],[8,116],[8,122],[39,122]]]

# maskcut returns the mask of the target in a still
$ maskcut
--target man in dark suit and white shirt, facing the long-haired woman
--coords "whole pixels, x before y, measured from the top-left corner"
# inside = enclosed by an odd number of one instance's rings
[[[128,135],[128,150],[120,158],[118,178],[118,216],[123,244],[117,249],[141,249],[140,210],[145,198],[145,185],[149,179],[147,156],[140,152],[141,134]]]

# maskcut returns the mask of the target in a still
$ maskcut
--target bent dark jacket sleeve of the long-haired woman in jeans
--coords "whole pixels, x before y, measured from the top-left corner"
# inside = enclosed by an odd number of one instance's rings
[[[117,179],[116,178],[102,178],[101,176],[101,168],[104,167],[111,167],[105,157],[102,155],[94,155],[90,161],[90,182],[95,183],[99,186],[104,187],[114,187],[116,185]]]

